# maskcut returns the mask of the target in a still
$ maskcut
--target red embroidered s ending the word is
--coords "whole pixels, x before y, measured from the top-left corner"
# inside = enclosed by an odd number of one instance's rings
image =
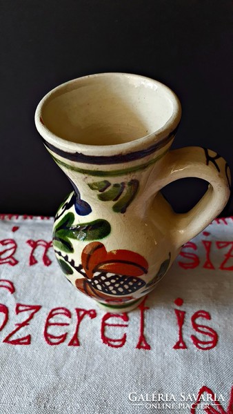
[[[218,342],[218,334],[214,329],[210,328],[210,326],[205,325],[199,325],[196,324],[196,319],[199,317],[203,317],[204,319],[207,319],[210,321],[211,316],[210,313],[206,311],[197,311],[192,315],[191,321],[192,321],[192,327],[196,332],[202,333],[203,335],[207,335],[211,338],[210,341],[201,341],[201,339],[198,339],[196,336],[191,335],[192,342],[196,346],[196,348],[202,349],[203,351],[207,351],[208,349],[212,349],[216,346]]]

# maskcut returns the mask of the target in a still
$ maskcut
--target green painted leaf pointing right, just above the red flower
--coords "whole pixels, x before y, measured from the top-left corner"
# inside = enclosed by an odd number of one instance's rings
[[[82,241],[99,240],[110,234],[111,226],[107,220],[97,219],[90,221],[90,223],[81,223],[75,227],[73,226],[72,232],[77,239]]]

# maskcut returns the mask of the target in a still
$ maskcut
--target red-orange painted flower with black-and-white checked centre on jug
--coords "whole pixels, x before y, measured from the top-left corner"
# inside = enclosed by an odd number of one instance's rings
[[[109,304],[134,299],[131,295],[145,286],[139,276],[148,273],[148,262],[131,250],[107,252],[102,243],[92,242],[83,249],[81,262],[85,277],[76,280],[77,288]]]

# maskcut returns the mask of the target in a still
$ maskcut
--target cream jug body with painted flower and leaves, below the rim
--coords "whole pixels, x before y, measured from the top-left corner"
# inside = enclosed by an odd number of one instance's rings
[[[70,282],[104,308],[122,312],[138,306],[176,257],[169,226],[160,225],[159,197],[145,198],[151,177],[163,169],[173,137],[163,139],[143,159],[141,152],[139,159],[101,169],[93,169],[89,159],[85,172],[81,163],[49,148],[74,187],[54,220],[57,260]],[[153,181],[159,188],[159,180]]]

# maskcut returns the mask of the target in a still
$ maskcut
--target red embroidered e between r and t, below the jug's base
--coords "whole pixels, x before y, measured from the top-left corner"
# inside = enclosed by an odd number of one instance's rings
[[[121,348],[121,346],[123,346],[125,344],[126,341],[126,333],[124,333],[123,337],[121,338],[117,338],[117,339],[113,339],[110,337],[107,337],[105,335],[105,326],[123,326],[126,327],[128,326],[128,324],[107,324],[106,321],[108,319],[110,319],[110,317],[116,317],[119,319],[122,319],[123,322],[128,322],[129,318],[127,313],[106,313],[103,316],[102,322],[101,322],[101,339],[103,341],[103,344],[106,344],[108,346],[111,346],[112,348]]]

